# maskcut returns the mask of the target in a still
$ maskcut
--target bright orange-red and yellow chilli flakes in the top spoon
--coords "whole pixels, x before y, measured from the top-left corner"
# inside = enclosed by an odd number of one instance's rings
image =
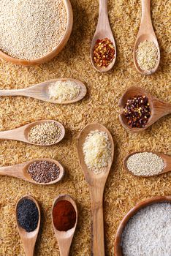
[[[108,38],[97,39],[94,45],[94,64],[96,67],[107,67],[113,61],[115,48]]]

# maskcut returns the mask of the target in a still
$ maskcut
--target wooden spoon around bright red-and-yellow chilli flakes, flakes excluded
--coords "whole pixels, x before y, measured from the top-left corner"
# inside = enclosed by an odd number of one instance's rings
[[[108,38],[111,42],[113,42],[115,48],[115,56],[113,61],[107,67],[96,67],[94,64],[94,45],[96,44],[97,39],[104,39]],[[107,0],[99,0],[99,20],[96,26],[96,31],[94,34],[94,38],[91,42],[91,64],[93,65],[94,69],[99,72],[107,72],[113,68],[116,59],[116,47],[115,47],[115,39],[113,37],[113,32],[110,28],[110,22],[108,18],[107,12]]]

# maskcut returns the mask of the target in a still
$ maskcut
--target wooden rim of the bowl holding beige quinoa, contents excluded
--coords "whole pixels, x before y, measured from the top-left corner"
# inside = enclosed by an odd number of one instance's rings
[[[56,55],[58,55],[58,53],[64,48],[64,46],[66,45],[66,42],[68,41],[70,34],[72,32],[72,25],[73,25],[72,5],[69,0],[63,0],[63,1],[64,1],[64,5],[67,12],[67,25],[66,25],[66,31],[65,31],[64,37],[61,39],[61,42],[58,43],[56,48],[54,48],[50,53],[47,53],[47,55],[38,59],[33,59],[33,60],[15,59],[12,56],[7,55],[6,53],[0,50],[0,58],[17,65],[34,66],[37,64],[42,64],[47,61],[50,61],[50,59],[53,59]]]

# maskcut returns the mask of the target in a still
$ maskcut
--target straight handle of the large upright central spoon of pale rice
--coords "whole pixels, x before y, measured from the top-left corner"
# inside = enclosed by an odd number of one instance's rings
[[[104,256],[103,189],[91,192],[91,255]]]

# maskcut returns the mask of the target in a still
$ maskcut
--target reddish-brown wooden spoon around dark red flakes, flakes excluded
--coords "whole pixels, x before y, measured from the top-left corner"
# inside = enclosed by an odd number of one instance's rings
[[[127,100],[137,95],[145,95],[146,97],[148,97],[148,102],[151,108],[151,117],[149,118],[148,123],[145,125],[145,127],[142,128],[130,127],[128,124],[128,120],[123,113],[123,108]],[[163,102],[156,97],[153,97],[148,91],[145,91],[140,87],[130,87],[127,91],[125,91],[123,96],[119,100],[119,107],[121,108],[121,114],[119,115],[119,119],[122,126],[132,132],[142,132],[143,130],[150,127],[151,124],[155,123],[162,116],[166,116],[171,113],[170,103]]]

